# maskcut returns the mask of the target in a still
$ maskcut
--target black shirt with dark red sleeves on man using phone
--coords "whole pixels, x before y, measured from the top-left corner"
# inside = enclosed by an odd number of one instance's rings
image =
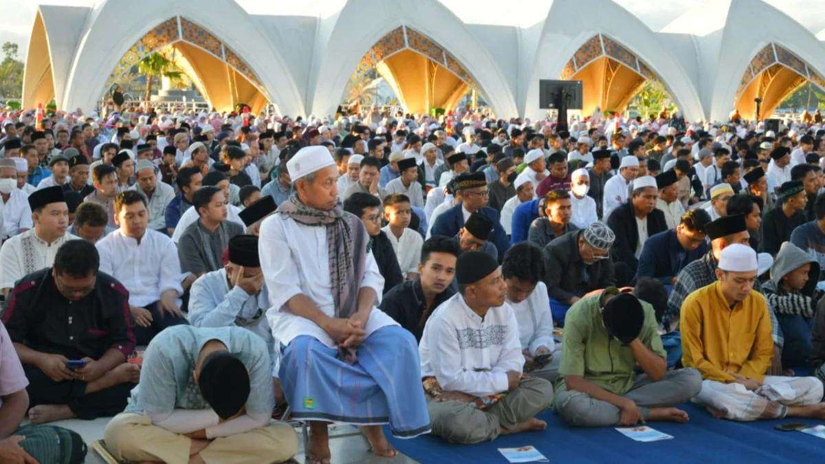
[[[114,277],[98,272],[94,290],[69,301],[55,286],[52,268],[17,282],[2,315],[12,342],[68,359],[100,359],[109,348],[129,357],[134,334],[129,292]]]

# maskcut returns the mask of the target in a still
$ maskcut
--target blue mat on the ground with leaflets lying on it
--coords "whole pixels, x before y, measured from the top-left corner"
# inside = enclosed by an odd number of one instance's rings
[[[639,464],[667,462],[703,464],[719,462],[818,463],[825,459],[825,440],[800,432],[780,432],[773,427],[788,422],[825,424],[821,420],[779,419],[735,423],[714,419],[704,409],[681,405],[691,416],[687,424],[650,422],[649,426],[672,435],[671,440],[638,443],[613,428],[572,428],[552,412],[539,418],[547,421],[542,432],[516,433],[475,445],[450,444],[441,438],[423,436],[412,440],[392,438],[384,433],[399,452],[423,464],[506,463],[497,451],[500,447],[536,447],[550,462],[592,464]]]

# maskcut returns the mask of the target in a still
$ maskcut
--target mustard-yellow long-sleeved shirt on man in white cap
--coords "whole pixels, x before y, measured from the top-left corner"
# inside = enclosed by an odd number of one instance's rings
[[[771,366],[773,339],[765,297],[751,291],[730,309],[722,283],[714,282],[687,296],[681,306],[681,362],[702,378],[733,381],[730,372],[762,380]]]

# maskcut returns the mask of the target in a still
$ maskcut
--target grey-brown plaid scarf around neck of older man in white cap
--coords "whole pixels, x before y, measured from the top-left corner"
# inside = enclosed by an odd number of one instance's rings
[[[344,211],[338,201],[330,211],[304,205],[297,194],[278,206],[278,212],[303,225],[327,228],[327,254],[332,278],[332,301],[336,318],[349,318],[358,310],[358,290],[364,278],[367,236],[358,216]],[[355,348],[338,348],[342,361],[356,362]]]

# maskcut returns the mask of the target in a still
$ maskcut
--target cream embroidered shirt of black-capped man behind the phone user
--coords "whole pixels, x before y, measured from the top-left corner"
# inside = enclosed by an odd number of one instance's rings
[[[60,245],[67,240],[78,239],[80,238],[66,233],[49,245],[35,234],[34,229],[7,239],[0,248],[0,288],[12,288],[14,282],[31,272],[49,268],[54,263],[54,255]]]

